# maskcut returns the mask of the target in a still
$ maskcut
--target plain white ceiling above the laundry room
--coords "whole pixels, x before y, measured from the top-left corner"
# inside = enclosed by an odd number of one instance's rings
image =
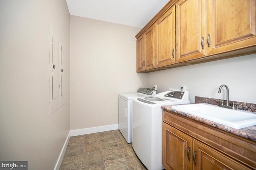
[[[66,0],[70,15],[143,28],[169,0]]]

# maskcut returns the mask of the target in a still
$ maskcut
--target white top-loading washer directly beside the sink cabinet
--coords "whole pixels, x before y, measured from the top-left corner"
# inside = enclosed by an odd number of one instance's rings
[[[148,170],[162,170],[163,105],[190,103],[188,91],[166,91],[132,99],[132,147]]]

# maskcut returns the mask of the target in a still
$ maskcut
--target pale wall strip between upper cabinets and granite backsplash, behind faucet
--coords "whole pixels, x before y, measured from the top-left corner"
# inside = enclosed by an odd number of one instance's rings
[[[148,85],[157,85],[158,92],[187,85],[190,102],[195,96],[226,100],[226,89],[218,93],[220,85],[229,88],[229,99],[256,103],[256,54],[222,59],[208,63],[178,67],[148,73]]]

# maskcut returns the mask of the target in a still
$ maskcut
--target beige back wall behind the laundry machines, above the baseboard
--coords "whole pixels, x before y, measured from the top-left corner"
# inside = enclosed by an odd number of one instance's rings
[[[70,130],[118,123],[118,94],[146,87],[136,73],[140,28],[70,16]]]

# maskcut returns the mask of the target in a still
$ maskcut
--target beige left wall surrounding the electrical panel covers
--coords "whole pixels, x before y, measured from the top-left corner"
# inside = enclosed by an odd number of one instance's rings
[[[65,0],[0,1],[0,160],[52,170],[70,130]],[[64,45],[66,104],[49,115],[49,25]]]

